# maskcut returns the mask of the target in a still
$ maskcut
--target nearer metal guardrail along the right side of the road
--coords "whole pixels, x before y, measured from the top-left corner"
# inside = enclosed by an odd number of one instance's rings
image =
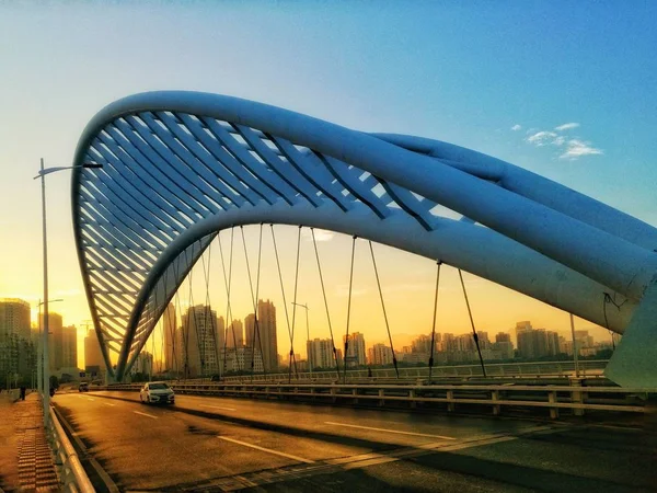
[[[383,406],[392,402],[419,405],[445,405],[453,412],[458,405],[489,406],[494,415],[504,406],[543,408],[550,416],[560,410],[574,415],[585,411],[643,413],[648,395],[657,389],[620,387],[583,387],[583,379],[570,379],[569,386],[541,385],[353,385],[353,383],[174,383],[178,393],[264,399],[312,399],[328,403],[373,401]],[[138,385],[99,387],[99,390],[139,390]]]

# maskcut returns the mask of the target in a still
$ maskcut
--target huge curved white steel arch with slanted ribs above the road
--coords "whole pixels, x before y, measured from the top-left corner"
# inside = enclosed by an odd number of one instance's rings
[[[218,231],[276,222],[439,259],[618,333],[638,324],[616,351],[632,364],[611,374],[623,383],[653,381],[639,378],[654,378],[650,355],[634,357],[633,347],[645,349],[656,333],[654,322],[635,320],[650,319],[641,313],[657,306],[646,299],[657,229],[512,164],[184,91],[137,94],[102,110],[80,138],[76,164],[83,162],[104,165],[76,170],[73,227],[96,335],[116,379]],[[606,294],[625,302],[610,309]]]

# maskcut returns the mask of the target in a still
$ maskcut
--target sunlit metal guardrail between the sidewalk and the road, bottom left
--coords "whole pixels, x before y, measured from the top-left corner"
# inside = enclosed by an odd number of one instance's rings
[[[59,479],[62,482],[61,491],[94,493],[95,489],[78,458],[78,452],[66,436],[53,408],[49,410],[49,416],[46,435],[55,455]]]

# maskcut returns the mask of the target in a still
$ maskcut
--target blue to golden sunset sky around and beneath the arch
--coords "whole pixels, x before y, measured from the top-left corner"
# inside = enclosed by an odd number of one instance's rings
[[[453,142],[657,225],[656,14],[657,3],[622,1],[0,1],[0,297],[35,305],[43,293],[41,191],[33,181],[39,159],[46,167],[70,164],[97,111],[150,90],[235,95],[359,130]],[[65,323],[81,328],[90,314],[68,172],[48,176],[47,205],[50,297],[64,298],[56,307]],[[252,255],[257,234],[245,228]],[[276,234],[289,301],[297,229],[277,227]],[[298,301],[310,307],[310,336],[326,337],[312,243],[302,234]],[[322,239],[327,301],[342,334],[351,240]],[[228,249],[230,231],[221,241]],[[234,317],[244,318],[251,300],[243,250],[235,245],[241,274],[233,283],[241,296],[231,305]],[[217,270],[210,301],[226,318],[217,250],[208,254]],[[431,329],[435,265],[382,245],[374,250],[393,340],[407,344]],[[384,342],[362,240],[356,259],[350,331],[364,332],[368,345]],[[289,347],[274,262],[269,251],[261,297],[278,307],[279,346]],[[201,278],[203,271],[193,274],[196,303],[206,296]],[[508,331],[519,320],[568,330],[560,310],[475,276],[466,274],[465,283],[480,330]],[[182,303],[189,298],[181,291]],[[439,332],[470,330],[453,268],[443,268],[439,303]],[[297,331],[306,332],[304,319],[299,323]],[[606,336],[601,329],[593,333]],[[83,335],[80,330],[80,341]]]

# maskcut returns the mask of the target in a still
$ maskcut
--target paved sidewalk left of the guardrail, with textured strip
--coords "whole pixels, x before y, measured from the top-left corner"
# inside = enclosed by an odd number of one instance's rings
[[[5,492],[59,491],[57,471],[46,440],[39,397],[0,399],[0,489]]]

